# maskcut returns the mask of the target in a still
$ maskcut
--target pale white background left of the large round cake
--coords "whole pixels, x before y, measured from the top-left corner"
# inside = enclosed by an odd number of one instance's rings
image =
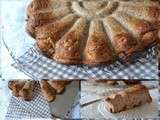
[[[25,0],[27,1],[27,0]],[[29,1],[29,0],[28,0]],[[19,26],[14,26],[15,22],[17,21],[23,21],[20,23],[25,22],[25,8],[21,8],[24,4],[24,0],[1,0],[1,10],[3,10],[1,14],[2,18],[2,24],[1,24],[1,31],[2,31],[2,38],[8,45],[8,47],[14,52],[14,55],[16,57],[20,56],[24,51],[29,47],[30,44],[33,44],[32,38],[30,39],[25,39],[25,36],[27,33],[25,32],[25,24],[24,25],[19,25]],[[12,8],[12,9],[11,9]],[[9,14],[12,14],[9,15]],[[19,15],[20,17],[16,17]],[[19,18],[19,19],[17,19]],[[18,37],[17,32],[11,32],[12,30],[17,31],[21,30],[22,33],[24,34],[23,38]],[[29,37],[28,37],[29,38]],[[15,40],[16,39],[16,40]],[[26,46],[24,46],[23,43],[28,43]],[[1,41],[1,72],[2,72],[2,77],[5,79],[15,79],[15,78],[26,78],[28,79],[29,77],[26,76],[24,73],[20,72],[19,70],[16,70],[11,66],[12,63],[14,63],[13,59],[11,58],[10,54],[8,53],[7,49],[5,48],[3,42]],[[16,51],[16,52],[15,52]]]

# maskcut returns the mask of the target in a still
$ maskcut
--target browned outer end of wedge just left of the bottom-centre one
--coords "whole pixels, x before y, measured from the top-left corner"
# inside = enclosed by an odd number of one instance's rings
[[[59,62],[72,61],[75,64],[82,60],[79,48],[79,39],[76,39],[76,32],[70,32],[66,37],[56,44],[55,60]],[[63,60],[63,61],[60,61]],[[65,63],[66,63],[65,62]]]

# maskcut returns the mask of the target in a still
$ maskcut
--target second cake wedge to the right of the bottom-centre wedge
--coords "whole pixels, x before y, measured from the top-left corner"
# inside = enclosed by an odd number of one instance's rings
[[[137,19],[124,12],[117,12],[116,19],[138,39],[144,49],[151,46],[158,39],[157,29],[148,21]]]

